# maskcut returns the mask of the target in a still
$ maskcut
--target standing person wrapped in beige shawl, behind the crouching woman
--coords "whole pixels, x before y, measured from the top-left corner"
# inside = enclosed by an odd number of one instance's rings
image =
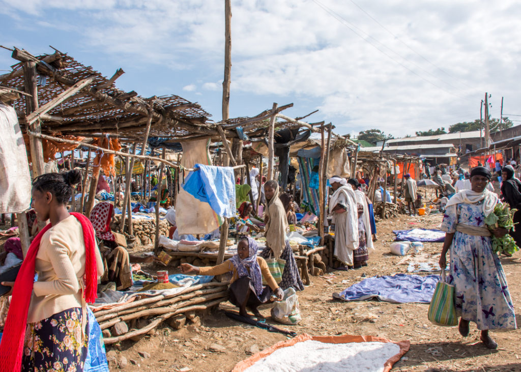
[[[281,258],[286,263],[282,271],[282,281],[280,287],[288,289],[292,287],[296,291],[303,291],[304,284],[296,266],[295,256],[291,249],[290,242],[286,239],[286,229],[288,220],[286,210],[279,198],[279,184],[275,180],[269,180],[264,184],[266,194],[266,245],[261,255],[264,258]]]

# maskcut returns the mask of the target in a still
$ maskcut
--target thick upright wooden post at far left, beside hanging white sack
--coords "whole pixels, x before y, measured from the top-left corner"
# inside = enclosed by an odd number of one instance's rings
[[[34,61],[25,62],[23,64],[24,89],[30,96],[26,96],[26,114],[32,114],[37,110],[38,105],[38,75],[36,74],[36,63]],[[40,120],[35,120],[30,126],[31,132],[40,134],[42,129],[40,127]],[[43,174],[45,163],[43,161],[43,146],[42,139],[29,136],[29,146],[31,150],[31,163],[33,170],[33,178]]]

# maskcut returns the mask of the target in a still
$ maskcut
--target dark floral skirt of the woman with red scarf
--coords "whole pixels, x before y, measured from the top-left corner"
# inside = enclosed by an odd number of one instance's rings
[[[22,371],[83,371],[88,336],[82,342],[81,307],[27,325]]]

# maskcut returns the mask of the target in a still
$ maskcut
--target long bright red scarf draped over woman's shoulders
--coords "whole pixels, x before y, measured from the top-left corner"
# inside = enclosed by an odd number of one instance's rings
[[[94,253],[94,230],[91,221],[80,213],[71,213],[80,221],[85,242],[85,291],[83,296],[86,302],[94,302],[97,297],[97,266]],[[22,262],[15,286],[13,299],[9,305],[7,320],[0,344],[0,370],[19,372],[22,364],[23,343],[27,327],[27,312],[31,302],[34,282],[34,266],[36,254],[40,249],[43,234],[51,228],[48,224],[31,243],[26,258]]]

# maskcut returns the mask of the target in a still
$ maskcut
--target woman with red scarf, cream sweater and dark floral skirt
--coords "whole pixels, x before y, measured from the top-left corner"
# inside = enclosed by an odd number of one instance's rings
[[[71,170],[33,181],[32,207],[51,223],[31,243],[16,282],[2,283],[14,287],[0,344],[2,371],[83,371],[86,303],[96,299],[103,261],[89,219],[66,207],[80,180]]]

